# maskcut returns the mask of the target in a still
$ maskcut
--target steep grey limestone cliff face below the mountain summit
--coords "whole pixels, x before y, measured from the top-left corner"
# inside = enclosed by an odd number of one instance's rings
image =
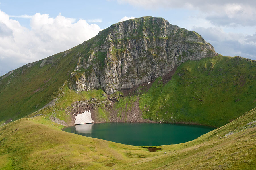
[[[107,94],[164,76],[187,60],[217,55],[194,31],[150,16],[113,24],[83,46],[71,87],[102,88]]]

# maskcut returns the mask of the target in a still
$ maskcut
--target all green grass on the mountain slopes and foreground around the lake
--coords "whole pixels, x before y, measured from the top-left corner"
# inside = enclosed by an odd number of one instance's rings
[[[142,24],[137,36],[130,38],[150,41],[161,32],[151,17],[131,21]],[[71,82],[68,80],[79,58],[83,61],[93,54],[92,62],[99,68],[104,66],[106,53],[94,54],[90,49],[111,43],[106,41],[110,28],[68,51],[40,60],[32,67],[22,66],[0,81],[0,126],[3,126],[0,128],[0,169],[256,168],[256,130],[252,128],[256,114],[253,109],[256,107],[256,65],[255,61],[241,57],[217,56],[187,61],[177,68],[172,79],[166,83],[159,77],[152,82],[150,89],[140,86],[131,97],[123,96],[121,92],[110,95],[116,100],[114,108],[118,109],[119,116],[121,112],[129,112],[139,101],[144,118],[158,122],[222,126],[187,143],[158,146],[163,149],[162,152],[148,152],[138,146],[66,133],[60,130],[63,126],[51,122],[49,117],[53,115],[69,123],[71,106],[77,101],[96,104],[98,117],[109,121],[109,113],[104,110],[105,105],[110,104],[106,93],[101,89],[75,92],[69,88]],[[152,35],[144,37],[142,33],[146,29]],[[172,35],[175,38],[194,34],[201,38],[186,29],[179,29]],[[118,44],[128,39],[125,37],[113,42]],[[169,37],[159,39],[166,41]],[[195,45],[205,44],[199,42]],[[156,51],[160,53],[161,48],[156,47]],[[111,51],[115,59],[125,52],[126,48],[113,48]],[[179,60],[186,56],[187,53],[183,53]],[[155,57],[158,58],[157,55]],[[93,71],[92,66],[80,69],[74,72],[73,78],[77,80],[81,75],[87,76]],[[53,107],[38,111],[52,99],[57,99]],[[248,110],[251,111],[241,116]],[[42,115],[24,118],[36,114]],[[9,121],[12,123],[3,124]],[[230,133],[234,134],[225,136]],[[115,165],[107,167],[109,163]]]

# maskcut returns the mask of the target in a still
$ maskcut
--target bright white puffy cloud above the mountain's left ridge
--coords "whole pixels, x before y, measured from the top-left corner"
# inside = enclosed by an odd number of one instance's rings
[[[74,21],[61,14],[51,18],[48,14],[36,13],[30,18],[29,30],[0,10],[0,76],[72,48],[102,30],[82,19]]]

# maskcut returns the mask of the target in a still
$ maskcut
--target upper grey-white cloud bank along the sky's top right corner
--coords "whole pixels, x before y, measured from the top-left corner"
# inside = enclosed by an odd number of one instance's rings
[[[256,1],[252,0],[117,0],[146,9],[185,8],[199,10],[205,18],[216,25],[256,25]],[[201,16],[201,14],[199,14]]]

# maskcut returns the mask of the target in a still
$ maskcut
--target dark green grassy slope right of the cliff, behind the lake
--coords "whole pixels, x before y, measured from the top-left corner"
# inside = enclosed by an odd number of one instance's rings
[[[152,120],[220,127],[256,107],[255,75],[256,61],[241,57],[187,61],[166,84],[139,87],[140,108]]]

